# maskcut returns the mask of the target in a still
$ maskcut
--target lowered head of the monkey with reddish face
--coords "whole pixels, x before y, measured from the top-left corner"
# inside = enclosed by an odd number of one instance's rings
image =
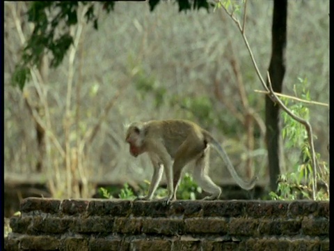
[[[137,157],[141,153],[145,152],[144,136],[145,131],[143,123],[134,122],[130,124],[129,128],[127,128],[125,142],[129,143],[129,151],[132,156]]]

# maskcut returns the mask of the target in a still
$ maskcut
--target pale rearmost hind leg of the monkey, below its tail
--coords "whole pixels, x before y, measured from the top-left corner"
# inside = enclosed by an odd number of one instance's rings
[[[209,172],[209,146],[203,151],[195,162],[193,176],[198,185],[206,192],[211,193],[205,200],[219,199],[221,196],[221,188],[216,185],[208,175]]]

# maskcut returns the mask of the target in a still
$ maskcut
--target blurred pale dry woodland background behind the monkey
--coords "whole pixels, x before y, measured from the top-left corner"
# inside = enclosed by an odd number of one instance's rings
[[[10,77],[33,29],[25,14],[29,3],[4,7],[8,215],[26,196],[87,198],[99,185],[127,182],[136,188],[150,179],[148,157],[129,155],[125,130],[132,121],[151,119],[200,124],[221,142],[241,176],[257,173],[266,188],[264,94],[255,92],[262,85],[237,26],[223,10],[179,13],[176,4],[161,2],[151,13],[148,3],[121,1],[106,14],[96,6],[98,30],[79,20],[72,29],[77,47],[56,69],[44,56],[21,91]],[[246,36],[264,76],[272,9],[272,1],[248,2]],[[288,1],[283,93],[302,98],[304,89],[311,100],[329,102],[328,13],[328,0]],[[315,149],[327,161],[328,107],[308,108]],[[288,170],[301,150],[284,154]],[[210,166],[216,183],[234,183],[214,151]]]

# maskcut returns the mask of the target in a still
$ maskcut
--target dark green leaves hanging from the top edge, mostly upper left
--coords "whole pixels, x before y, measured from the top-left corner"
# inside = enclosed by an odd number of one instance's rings
[[[96,4],[95,4],[96,3]],[[159,0],[150,0],[150,10],[159,3]],[[177,0],[179,11],[205,8],[209,10],[207,0]],[[191,3],[193,5],[191,6]],[[73,36],[70,27],[78,22],[77,11],[80,5],[88,6],[86,21],[93,22],[93,27],[98,29],[98,17],[95,15],[97,4],[102,5],[102,10],[109,13],[113,10],[113,1],[33,1],[28,10],[28,21],[33,23],[33,32],[24,47],[22,62],[17,64],[11,82],[23,89],[29,79],[29,68],[40,66],[42,56],[50,53],[50,67],[58,67],[65,54],[73,44]]]

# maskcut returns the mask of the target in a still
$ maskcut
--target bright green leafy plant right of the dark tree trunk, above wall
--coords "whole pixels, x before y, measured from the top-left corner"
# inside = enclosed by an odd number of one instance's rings
[[[294,85],[295,95],[301,93],[301,98],[304,100],[310,100],[310,91],[306,89],[308,84],[307,79],[299,78],[299,84]],[[289,105],[289,100],[284,98],[285,105]],[[302,102],[289,105],[289,109],[299,117],[308,120],[309,109]],[[301,123],[297,123],[294,119],[288,116],[285,112],[281,114],[283,116],[283,139],[285,139],[285,148],[292,149],[299,147],[301,149],[301,155],[292,172],[287,174],[281,174],[278,179],[278,188],[276,192],[270,192],[269,195],[272,199],[312,199],[312,175],[314,170],[312,169],[310,146],[307,140],[307,133]],[[320,155],[317,154],[317,163],[319,163]],[[317,192],[316,199],[329,199],[329,169],[326,162],[321,162],[321,172],[317,174],[317,181],[325,184],[327,191],[320,189]],[[318,165],[319,166],[319,165]],[[317,167],[319,169],[319,167]]]

